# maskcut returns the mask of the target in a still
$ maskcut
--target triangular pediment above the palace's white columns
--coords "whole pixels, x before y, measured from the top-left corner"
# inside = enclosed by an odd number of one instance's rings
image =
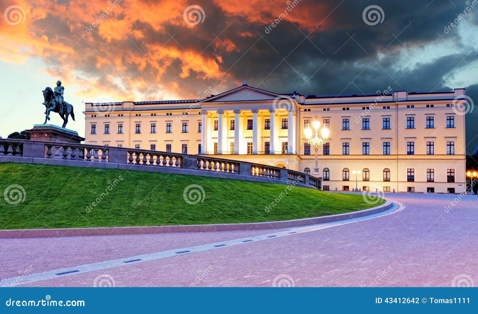
[[[222,103],[238,101],[267,101],[274,99],[293,100],[289,96],[272,93],[260,88],[242,85],[230,91],[206,98],[201,103]]]

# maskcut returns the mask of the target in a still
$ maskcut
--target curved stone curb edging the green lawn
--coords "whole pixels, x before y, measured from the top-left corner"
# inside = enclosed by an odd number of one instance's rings
[[[120,235],[120,234],[146,234],[146,233],[172,233],[172,232],[209,232],[230,230],[262,230],[282,229],[300,226],[315,225],[319,223],[348,220],[373,215],[391,209],[393,203],[386,200],[385,204],[353,211],[345,214],[322,216],[315,218],[253,222],[253,223],[229,223],[215,225],[185,225],[185,226],[152,226],[152,227],[105,227],[105,228],[72,228],[72,229],[26,229],[26,230],[0,230],[0,239],[14,238],[52,238],[74,237],[93,235]]]

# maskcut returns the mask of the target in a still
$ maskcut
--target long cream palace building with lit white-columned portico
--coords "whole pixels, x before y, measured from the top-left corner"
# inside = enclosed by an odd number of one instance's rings
[[[304,127],[316,116],[330,129],[318,151],[324,190],[352,189],[357,179],[362,190],[459,193],[466,190],[465,102],[464,88],[302,95],[244,82],[204,99],[87,103],[85,143],[310,172],[315,149]]]

